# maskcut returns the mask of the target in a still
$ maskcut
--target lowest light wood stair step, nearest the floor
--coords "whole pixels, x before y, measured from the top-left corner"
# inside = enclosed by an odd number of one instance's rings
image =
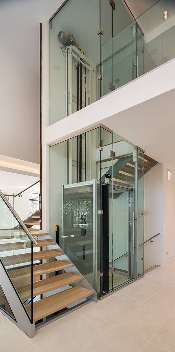
[[[33,303],[33,320],[37,321],[43,319],[46,316],[58,312],[58,310],[66,308],[91,295],[93,295],[92,290],[79,285],[53,296],[43,298],[42,300]],[[31,312],[31,304],[26,308],[28,312]]]

